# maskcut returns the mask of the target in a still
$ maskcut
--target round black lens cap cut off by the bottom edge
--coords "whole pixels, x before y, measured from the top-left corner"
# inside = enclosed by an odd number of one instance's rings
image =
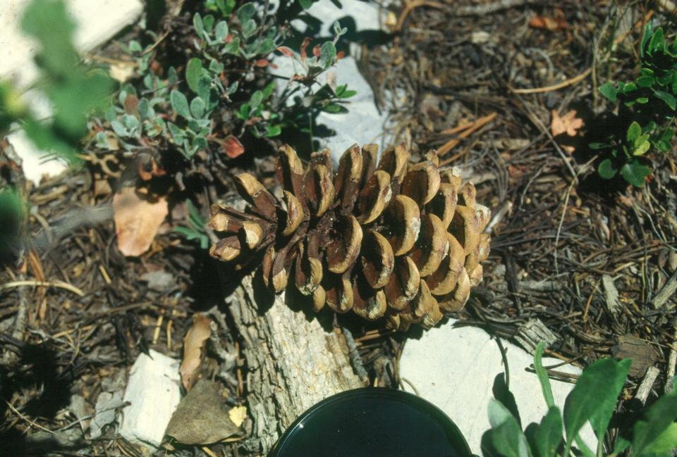
[[[395,389],[330,396],[303,413],[268,457],[469,457],[458,427],[436,406]]]

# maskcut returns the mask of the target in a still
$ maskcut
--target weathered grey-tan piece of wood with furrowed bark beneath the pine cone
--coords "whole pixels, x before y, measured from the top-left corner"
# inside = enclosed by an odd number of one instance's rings
[[[243,340],[247,399],[254,420],[245,446],[265,455],[298,415],[338,392],[362,387],[343,335],[275,296],[262,303],[244,278],[226,300]]]

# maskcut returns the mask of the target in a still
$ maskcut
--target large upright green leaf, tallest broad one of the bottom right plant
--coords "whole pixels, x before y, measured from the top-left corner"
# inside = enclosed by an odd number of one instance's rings
[[[599,418],[598,423],[602,423],[605,416],[599,410],[606,411],[609,404],[613,408],[618,396],[618,392],[609,389],[606,383],[626,373],[625,365],[611,358],[602,358],[583,372],[564,402],[566,446],[562,455],[568,456],[578,431],[587,420],[595,416]]]

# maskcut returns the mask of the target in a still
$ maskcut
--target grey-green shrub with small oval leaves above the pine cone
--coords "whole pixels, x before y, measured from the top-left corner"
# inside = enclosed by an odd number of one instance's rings
[[[223,145],[227,134],[272,138],[287,128],[312,134],[312,118],[319,111],[345,112],[345,99],[355,94],[345,86],[332,90],[316,82],[341,58],[336,42],[346,31],[336,24],[334,38],[315,46],[311,57],[305,55],[310,40],[305,41],[299,57],[281,46],[288,30],[276,25],[268,11],[252,2],[236,8],[232,0],[205,0],[202,12],[193,15],[186,61],[174,62],[181,75],[174,66],[152,65],[157,36],[151,35],[154,41],[145,47],[130,42],[138,80],[121,88],[118,104],[99,121],[97,146],[132,150],[152,145],[166,150],[173,144],[184,158],[192,159],[198,151]],[[299,63],[299,74],[279,93],[272,75],[260,71],[271,65],[275,51]],[[292,98],[299,92],[303,96]],[[111,142],[111,137],[117,141]]]

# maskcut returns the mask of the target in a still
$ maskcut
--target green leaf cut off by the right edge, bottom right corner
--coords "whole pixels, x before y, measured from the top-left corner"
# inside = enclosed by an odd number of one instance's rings
[[[677,417],[677,393],[659,398],[633,427],[633,456],[640,456],[661,437]]]

